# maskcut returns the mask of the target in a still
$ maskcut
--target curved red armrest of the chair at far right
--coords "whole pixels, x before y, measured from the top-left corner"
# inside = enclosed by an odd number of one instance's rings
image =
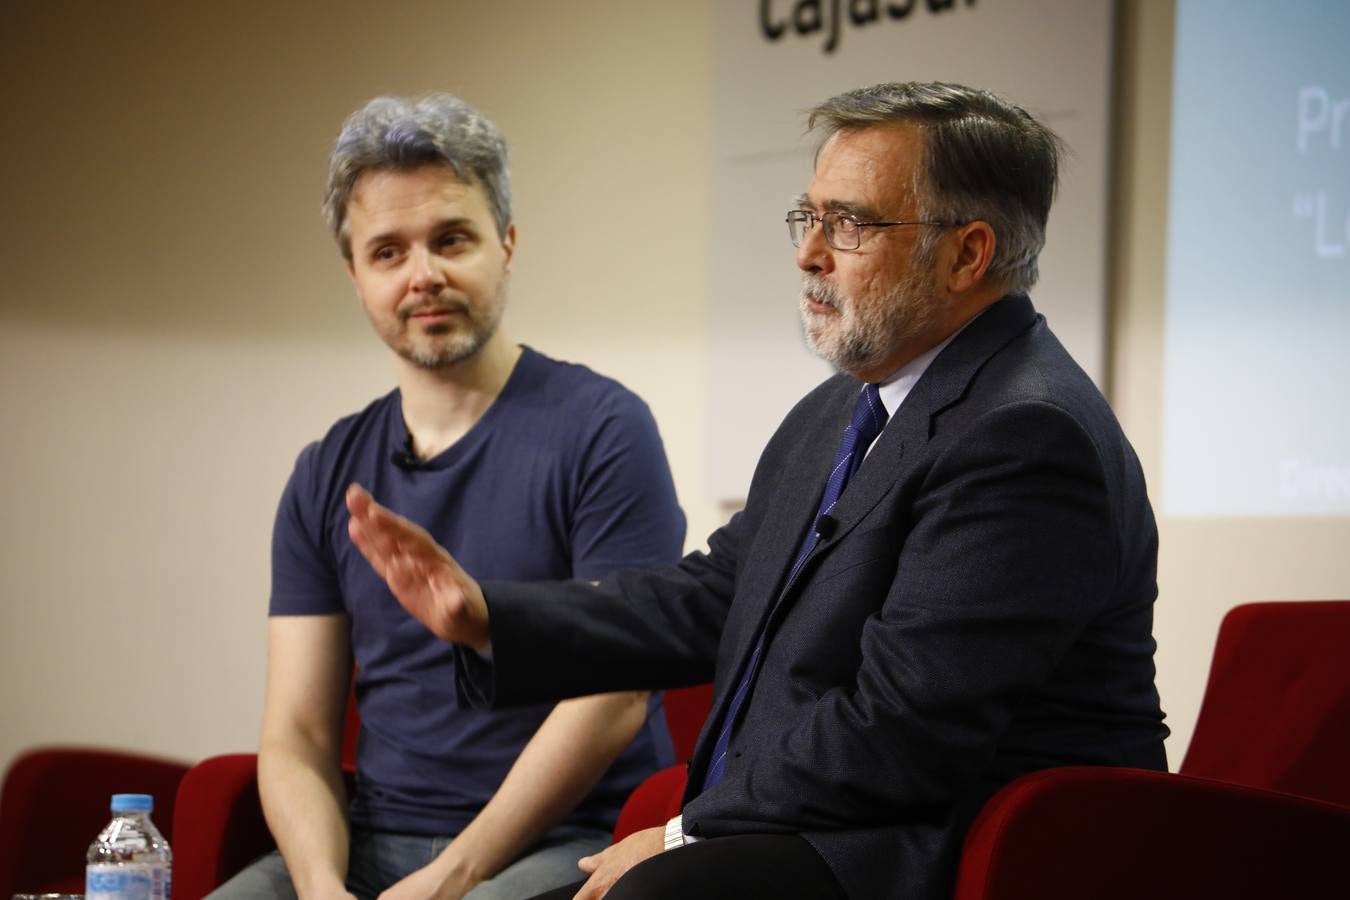
[[[1143,769],[1004,787],[965,837],[956,900],[1350,896],[1350,807]]]

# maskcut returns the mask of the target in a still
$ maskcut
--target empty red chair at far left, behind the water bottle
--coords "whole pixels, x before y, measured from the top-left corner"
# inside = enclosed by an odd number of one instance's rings
[[[20,756],[0,789],[0,897],[84,893],[85,851],[108,824],[113,793],[153,795],[151,819],[169,837],[185,772],[182,762],[93,748]]]

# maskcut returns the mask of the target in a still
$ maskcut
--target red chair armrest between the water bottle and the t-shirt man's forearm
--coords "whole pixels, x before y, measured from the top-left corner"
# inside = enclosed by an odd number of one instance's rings
[[[258,756],[202,760],[178,785],[174,899],[198,900],[275,847],[258,796]]]

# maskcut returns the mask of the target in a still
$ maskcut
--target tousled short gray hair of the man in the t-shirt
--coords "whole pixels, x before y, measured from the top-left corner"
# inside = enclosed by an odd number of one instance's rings
[[[324,219],[343,256],[351,259],[347,204],[362,173],[378,169],[450,166],[466,185],[479,185],[497,223],[510,227],[510,169],[506,139],[491,121],[459,97],[375,97],[343,123],[328,158]]]

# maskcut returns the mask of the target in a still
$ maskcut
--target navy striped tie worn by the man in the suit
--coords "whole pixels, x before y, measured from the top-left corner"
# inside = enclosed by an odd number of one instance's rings
[[[821,509],[806,532],[802,548],[796,552],[796,561],[792,563],[787,583],[783,586],[783,594],[796,580],[796,573],[802,569],[802,564],[811,555],[811,551],[815,549],[817,541],[819,541],[817,522],[819,522],[822,515],[829,515],[834,510],[840,495],[844,494],[844,487],[853,478],[857,467],[863,464],[867,448],[872,445],[876,436],[882,433],[882,428],[886,426],[886,406],[882,405],[882,394],[878,391],[876,385],[864,385],[863,393],[857,397],[857,403],[853,405],[853,421],[844,429],[844,439],[840,441],[838,451],[834,452],[834,466],[830,467],[830,476],[825,482],[825,495],[821,497]],[[779,598],[782,599],[782,594],[779,594]],[[772,613],[764,617],[765,626],[771,618]],[[713,761],[707,765],[707,773],[703,776],[705,791],[722,780],[722,773],[726,769],[726,752],[732,741],[732,727],[736,725],[736,714],[740,712],[741,704],[745,703],[751,684],[755,681],[755,675],[759,672],[760,656],[764,653],[764,627],[761,626],[759,640],[755,642],[751,658],[745,664],[745,675],[741,676],[741,683],[736,685],[736,694],[732,695],[732,702],[726,707],[726,715],[722,718],[722,729],[717,733],[717,743],[713,745]]]

